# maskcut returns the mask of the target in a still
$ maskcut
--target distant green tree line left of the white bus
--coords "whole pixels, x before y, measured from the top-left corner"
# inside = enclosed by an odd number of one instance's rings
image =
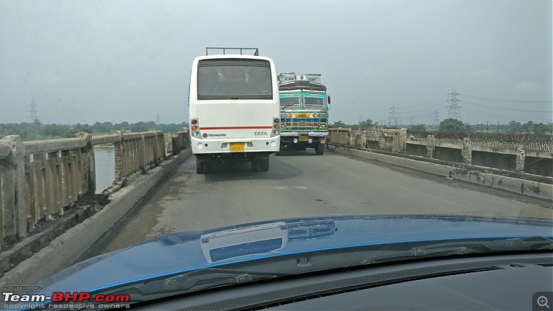
[[[149,129],[158,129],[164,132],[180,131],[188,127],[187,122],[180,124],[156,124],[156,122],[96,122],[95,124],[41,124],[34,123],[0,123],[0,138],[6,135],[20,135],[23,140],[48,140],[55,138],[71,138],[76,133],[85,132],[91,135],[111,133],[111,131],[144,132]]]

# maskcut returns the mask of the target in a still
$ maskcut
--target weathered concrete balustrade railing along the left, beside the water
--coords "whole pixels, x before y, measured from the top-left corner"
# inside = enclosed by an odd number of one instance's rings
[[[27,236],[41,222],[64,214],[79,198],[95,194],[94,146],[115,147],[115,180],[111,193],[127,178],[156,167],[189,147],[185,129],[171,135],[166,151],[165,133],[121,133],[23,142],[19,135],[0,139],[0,243]]]

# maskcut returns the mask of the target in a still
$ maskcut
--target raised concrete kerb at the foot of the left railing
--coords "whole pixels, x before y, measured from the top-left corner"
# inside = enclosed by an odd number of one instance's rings
[[[55,238],[50,245],[6,272],[0,279],[0,288],[3,288],[4,285],[35,284],[75,263],[100,236],[111,229],[113,223],[124,216],[140,198],[147,194],[153,185],[174,171],[175,167],[190,155],[191,148],[185,149],[172,160],[162,162],[160,166],[151,169],[130,185],[115,192],[111,202],[100,211],[68,229],[64,234]]]

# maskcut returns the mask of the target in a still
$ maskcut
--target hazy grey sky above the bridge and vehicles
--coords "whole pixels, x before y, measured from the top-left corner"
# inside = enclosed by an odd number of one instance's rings
[[[0,0],[0,123],[188,119],[206,46],[321,73],[331,122],[552,122],[552,1]]]

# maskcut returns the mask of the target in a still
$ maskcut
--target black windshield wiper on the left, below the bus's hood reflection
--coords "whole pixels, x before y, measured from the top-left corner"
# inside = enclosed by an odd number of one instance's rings
[[[124,285],[113,290],[102,290],[101,293],[95,294],[129,294],[131,299],[129,303],[138,303],[175,294],[198,292],[223,285],[236,285],[285,275],[266,272],[247,272],[245,270],[205,268],[169,276],[164,279]]]

